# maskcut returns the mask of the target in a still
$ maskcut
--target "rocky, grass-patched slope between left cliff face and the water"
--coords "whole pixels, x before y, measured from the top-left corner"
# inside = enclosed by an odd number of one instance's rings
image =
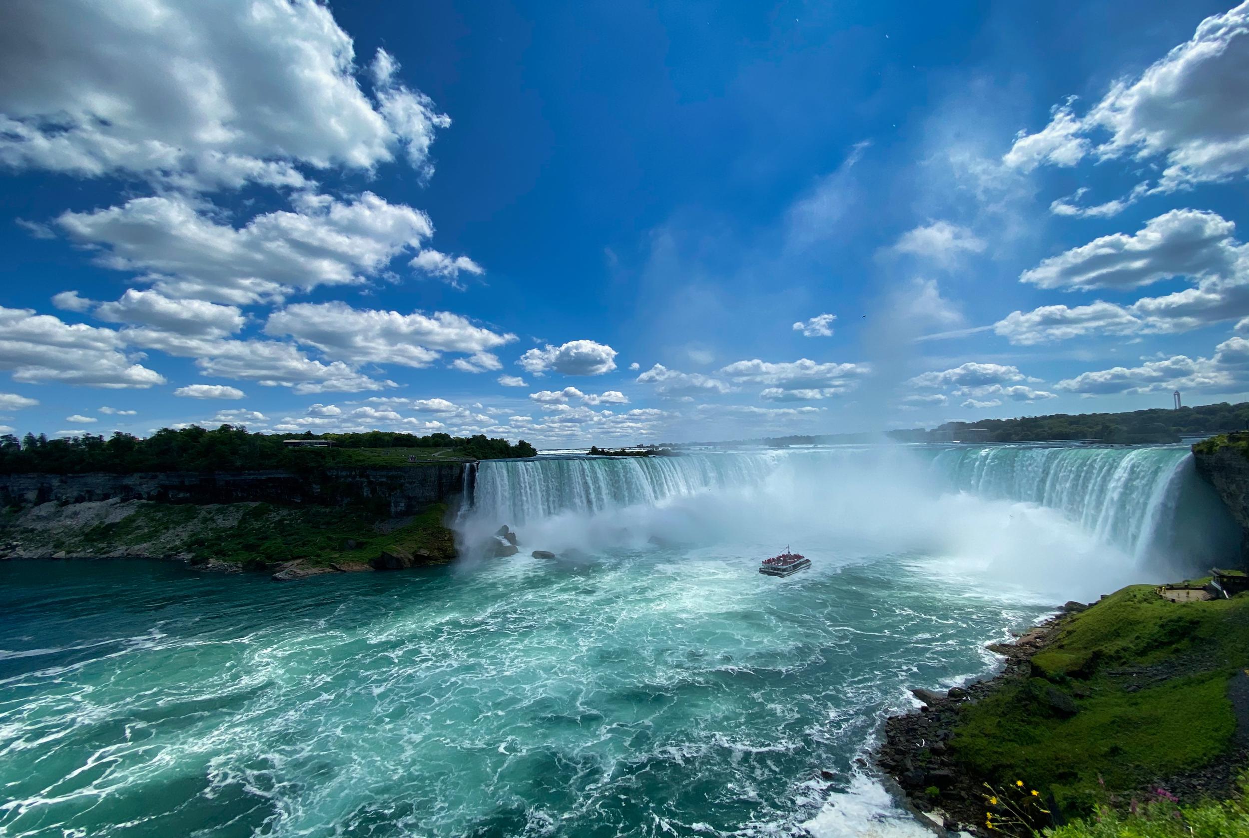
[[[0,512],[0,558],[170,558],[290,581],[450,562],[447,516],[446,503],[392,517],[388,503],[49,502]]]

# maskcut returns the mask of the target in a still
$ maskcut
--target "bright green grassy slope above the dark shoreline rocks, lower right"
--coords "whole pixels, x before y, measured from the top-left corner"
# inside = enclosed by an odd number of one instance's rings
[[[1205,788],[1192,778],[1232,771],[1229,688],[1247,667],[1249,594],[1174,603],[1132,586],[1072,618],[1030,677],[962,706],[950,749],[974,776],[1019,779],[1068,813],[1150,784]]]

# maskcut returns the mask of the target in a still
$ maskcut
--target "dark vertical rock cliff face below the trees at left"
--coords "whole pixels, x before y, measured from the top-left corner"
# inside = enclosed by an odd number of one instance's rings
[[[463,463],[406,468],[331,468],[306,476],[285,471],[159,472],[139,475],[0,475],[0,505],[59,501],[159,501],[165,503],[309,503],[341,506],[381,500],[391,516],[413,515],[431,503],[460,501]]]

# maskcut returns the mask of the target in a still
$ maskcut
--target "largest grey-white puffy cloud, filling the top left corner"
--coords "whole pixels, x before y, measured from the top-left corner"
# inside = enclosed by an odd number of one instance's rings
[[[0,162],[184,189],[300,187],[301,166],[398,155],[427,174],[450,120],[396,70],[378,52],[362,86],[315,0],[9,0],[0,77],[22,84],[0,85]]]

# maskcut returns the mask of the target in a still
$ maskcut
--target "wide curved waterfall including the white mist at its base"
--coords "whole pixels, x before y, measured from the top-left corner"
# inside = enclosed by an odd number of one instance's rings
[[[1095,597],[1234,561],[1238,530],[1187,448],[873,446],[482,462],[466,542],[501,523],[577,555],[697,543]]]

